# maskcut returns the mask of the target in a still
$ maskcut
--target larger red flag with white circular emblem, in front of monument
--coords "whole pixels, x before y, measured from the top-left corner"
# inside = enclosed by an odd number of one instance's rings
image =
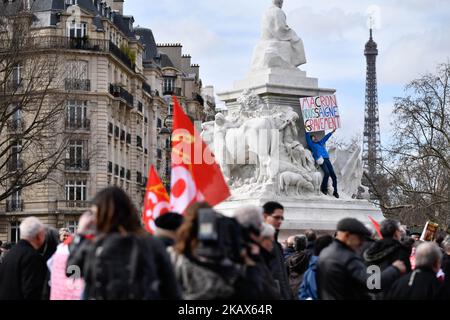
[[[230,196],[230,189],[214,155],[175,96],[173,102],[171,208],[184,213],[196,201],[215,206]]]

